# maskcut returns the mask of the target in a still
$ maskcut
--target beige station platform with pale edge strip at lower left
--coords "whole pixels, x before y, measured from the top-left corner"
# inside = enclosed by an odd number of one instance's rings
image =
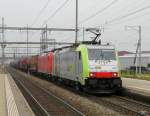
[[[9,74],[0,74],[0,116],[35,116]]]

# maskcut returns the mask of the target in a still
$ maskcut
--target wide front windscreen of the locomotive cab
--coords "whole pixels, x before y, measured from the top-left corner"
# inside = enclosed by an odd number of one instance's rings
[[[116,60],[114,49],[88,49],[89,60]]]

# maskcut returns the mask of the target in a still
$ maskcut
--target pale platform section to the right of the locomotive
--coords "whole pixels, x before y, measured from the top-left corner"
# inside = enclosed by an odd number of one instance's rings
[[[128,91],[150,97],[150,81],[122,78],[122,85]]]

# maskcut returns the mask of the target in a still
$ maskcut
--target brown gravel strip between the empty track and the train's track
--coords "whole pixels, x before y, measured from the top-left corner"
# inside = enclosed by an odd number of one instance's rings
[[[64,99],[65,101],[70,103],[72,106],[76,107],[81,112],[83,112],[86,116],[120,116],[121,115],[118,112],[115,112],[111,109],[101,106],[100,104],[97,104],[87,99],[86,97],[77,95],[51,82],[42,80],[32,75],[27,75],[20,71],[18,72],[27,76],[28,79],[32,80],[32,82],[36,84],[40,84],[41,86],[48,89],[50,92],[54,93],[56,96],[59,96],[60,98]]]

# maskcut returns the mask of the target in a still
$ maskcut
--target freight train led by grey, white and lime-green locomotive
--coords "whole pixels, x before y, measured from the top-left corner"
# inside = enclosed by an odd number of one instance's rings
[[[117,51],[109,44],[62,47],[11,64],[90,93],[114,93],[122,89]]]

